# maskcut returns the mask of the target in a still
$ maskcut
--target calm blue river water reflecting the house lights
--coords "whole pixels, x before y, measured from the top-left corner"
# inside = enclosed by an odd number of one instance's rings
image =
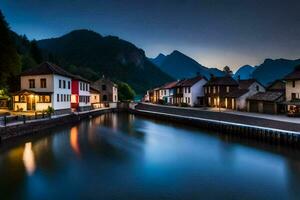
[[[299,199],[299,152],[127,114],[0,148],[0,199]]]

